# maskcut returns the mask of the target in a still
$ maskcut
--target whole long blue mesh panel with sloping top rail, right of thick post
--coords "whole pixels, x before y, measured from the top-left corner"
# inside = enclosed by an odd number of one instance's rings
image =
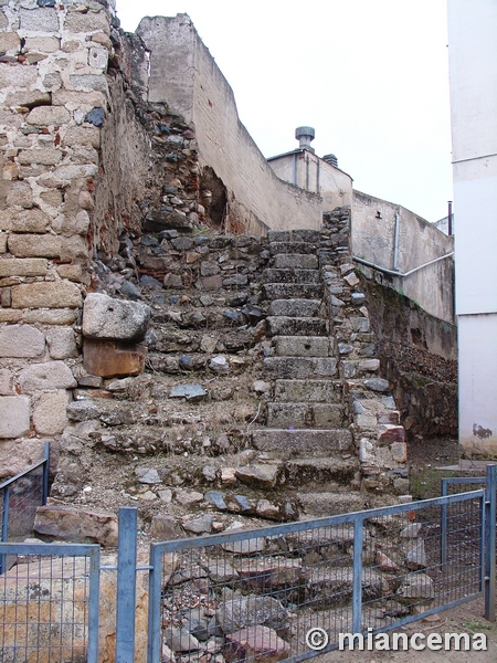
[[[151,566],[161,570],[150,592],[158,628],[149,661],[303,660],[348,634],[383,632],[477,598],[483,536],[484,491],[474,491],[154,544]]]

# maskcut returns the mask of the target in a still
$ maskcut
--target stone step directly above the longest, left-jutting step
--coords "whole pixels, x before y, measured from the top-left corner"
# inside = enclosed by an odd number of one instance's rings
[[[343,425],[343,407],[337,403],[267,403],[269,428],[330,429]]]

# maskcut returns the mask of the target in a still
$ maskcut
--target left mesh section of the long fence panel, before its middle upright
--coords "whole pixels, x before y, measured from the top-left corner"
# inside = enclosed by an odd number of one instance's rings
[[[162,549],[162,661],[289,659],[309,653],[309,631],[351,628],[353,524],[219,538]]]

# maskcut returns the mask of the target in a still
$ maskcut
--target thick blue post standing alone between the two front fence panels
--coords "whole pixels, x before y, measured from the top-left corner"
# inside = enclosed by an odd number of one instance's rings
[[[116,663],[135,661],[137,509],[119,508],[117,548]]]

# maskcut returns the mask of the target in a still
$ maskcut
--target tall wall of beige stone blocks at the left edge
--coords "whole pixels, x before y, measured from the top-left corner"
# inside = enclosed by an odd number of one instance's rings
[[[113,20],[89,1],[0,11],[2,476],[38,460],[67,422]]]

